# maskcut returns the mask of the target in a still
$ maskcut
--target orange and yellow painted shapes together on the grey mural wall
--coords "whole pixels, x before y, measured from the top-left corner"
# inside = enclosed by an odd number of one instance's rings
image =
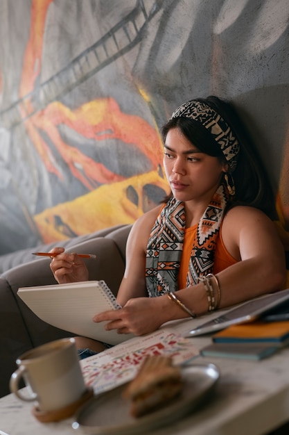
[[[19,109],[25,119],[28,137],[47,172],[64,180],[62,170],[65,170],[66,164],[72,177],[92,192],[35,216],[35,222],[47,243],[114,224],[134,222],[143,209],[154,201],[151,195],[146,197],[143,193],[144,186],[153,185],[161,192],[168,188],[166,180],[158,172],[163,160],[159,133],[140,116],[124,113],[111,97],[88,101],[76,109],[53,101],[43,110],[35,112],[37,108],[33,107],[33,94],[30,93],[35,88],[42,68],[44,28],[51,2],[32,2],[30,35],[19,87],[19,96],[23,100]],[[152,122],[155,125],[155,120],[152,119]],[[96,147],[100,140],[107,140],[107,147],[109,140],[119,140],[124,146],[139,149],[150,161],[151,172],[124,179],[121,174],[111,172],[103,163],[92,160],[77,147],[67,144],[60,135],[59,127],[62,125],[84,138],[94,139]],[[55,161],[50,144],[57,149],[61,164]],[[127,195],[127,190],[133,192],[130,193],[132,197]],[[134,195],[138,197],[137,205],[134,204]]]

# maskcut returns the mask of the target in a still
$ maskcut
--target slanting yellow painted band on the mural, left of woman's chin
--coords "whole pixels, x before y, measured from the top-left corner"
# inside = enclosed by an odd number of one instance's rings
[[[105,184],[71,202],[47,208],[34,216],[35,224],[44,243],[118,224],[131,224],[146,211],[144,204],[148,199],[143,193],[146,185],[157,186],[166,193],[169,191],[166,179],[152,171],[119,183]],[[134,201],[128,195],[130,190],[134,192]]]

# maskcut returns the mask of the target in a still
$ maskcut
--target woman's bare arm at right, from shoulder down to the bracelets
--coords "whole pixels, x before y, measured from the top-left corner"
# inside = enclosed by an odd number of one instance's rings
[[[274,223],[256,208],[232,208],[225,217],[222,239],[240,261],[218,274],[222,307],[283,288],[285,253]],[[231,288],[231,290],[230,290]]]

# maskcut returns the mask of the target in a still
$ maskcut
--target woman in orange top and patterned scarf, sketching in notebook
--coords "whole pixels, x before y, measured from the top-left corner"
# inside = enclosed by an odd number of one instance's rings
[[[120,334],[274,292],[286,279],[274,197],[233,108],[217,97],[188,101],[162,132],[171,195],[132,227],[117,296],[123,308],[94,318]],[[76,254],[53,252],[59,283],[89,278]],[[85,338],[78,345],[105,348]]]

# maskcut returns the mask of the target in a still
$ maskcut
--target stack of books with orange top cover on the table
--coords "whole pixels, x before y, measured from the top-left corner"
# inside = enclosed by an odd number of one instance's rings
[[[203,356],[263,359],[289,344],[289,321],[255,322],[232,325],[212,336]]]

